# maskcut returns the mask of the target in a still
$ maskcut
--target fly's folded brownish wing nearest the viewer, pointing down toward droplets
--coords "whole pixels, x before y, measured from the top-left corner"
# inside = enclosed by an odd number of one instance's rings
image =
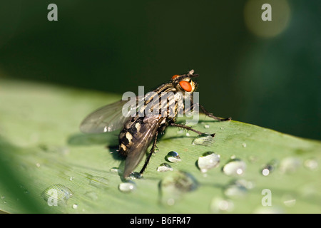
[[[133,139],[131,140],[133,144],[128,149],[128,155],[126,157],[125,170],[123,171],[124,177],[127,177],[133,172],[139,162],[143,159],[148,145],[151,144],[151,141],[156,136],[158,123],[161,123],[162,119],[163,118],[155,117],[145,118],[139,133],[133,135]]]

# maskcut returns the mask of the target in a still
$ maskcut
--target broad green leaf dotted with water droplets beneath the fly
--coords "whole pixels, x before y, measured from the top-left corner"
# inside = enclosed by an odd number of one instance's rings
[[[120,95],[4,79],[0,85],[2,212],[321,212],[319,141],[201,115],[193,127],[215,133],[213,141],[168,128],[143,178],[123,180],[118,132],[78,130],[88,113]],[[170,151],[181,161],[166,160]],[[219,162],[201,172],[205,152]],[[162,163],[173,171],[158,172]],[[133,190],[119,190],[127,182]]]

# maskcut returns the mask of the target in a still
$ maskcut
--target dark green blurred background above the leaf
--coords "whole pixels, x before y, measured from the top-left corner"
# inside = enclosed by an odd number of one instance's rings
[[[0,77],[121,95],[194,69],[215,115],[321,140],[320,13],[319,0],[1,1]]]

